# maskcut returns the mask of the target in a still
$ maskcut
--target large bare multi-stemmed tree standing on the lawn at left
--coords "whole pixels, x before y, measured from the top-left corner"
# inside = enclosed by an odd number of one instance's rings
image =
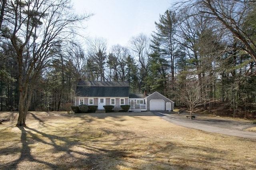
[[[32,92],[42,69],[55,52],[74,38],[74,28],[89,16],[77,16],[70,0],[15,0],[6,4],[3,35],[10,40],[18,61],[19,117],[26,125]]]

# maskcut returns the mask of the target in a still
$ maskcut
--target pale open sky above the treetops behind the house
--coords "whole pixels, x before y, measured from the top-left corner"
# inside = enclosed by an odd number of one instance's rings
[[[139,33],[155,31],[154,22],[175,0],[74,0],[76,12],[93,13],[86,21],[86,34],[103,37],[108,47],[128,45]]]

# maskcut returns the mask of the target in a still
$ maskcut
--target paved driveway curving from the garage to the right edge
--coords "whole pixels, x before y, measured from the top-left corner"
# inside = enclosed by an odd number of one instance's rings
[[[167,113],[165,111],[152,111],[157,116],[162,117],[162,119],[174,123],[176,125],[189,127],[193,129],[199,129],[202,131],[220,133],[224,135],[232,135],[236,137],[243,137],[249,139],[256,139],[255,132],[243,131],[244,127],[256,127],[255,124],[230,121],[222,119],[186,119],[185,116],[178,116]]]

